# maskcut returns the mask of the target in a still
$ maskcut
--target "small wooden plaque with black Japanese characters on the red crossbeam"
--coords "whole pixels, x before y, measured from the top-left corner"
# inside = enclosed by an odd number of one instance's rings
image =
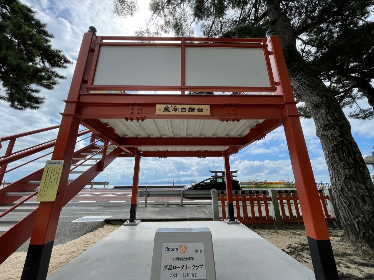
[[[210,116],[210,105],[157,104],[156,115]]]

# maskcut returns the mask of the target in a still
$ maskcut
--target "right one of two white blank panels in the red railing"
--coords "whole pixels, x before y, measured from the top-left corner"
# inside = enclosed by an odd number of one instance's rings
[[[270,87],[262,48],[186,47],[186,85]]]

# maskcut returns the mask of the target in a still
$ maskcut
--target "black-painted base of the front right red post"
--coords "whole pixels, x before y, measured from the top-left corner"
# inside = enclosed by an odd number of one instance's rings
[[[307,238],[316,280],[339,280],[331,241]]]

